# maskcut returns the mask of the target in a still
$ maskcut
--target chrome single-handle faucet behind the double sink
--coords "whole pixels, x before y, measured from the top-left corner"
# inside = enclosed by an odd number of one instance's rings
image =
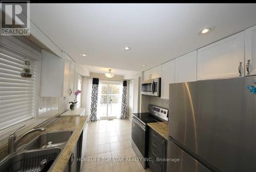
[[[40,132],[44,132],[46,131],[46,128],[40,128],[40,127],[37,127],[37,128],[33,128],[32,130],[28,131],[27,133],[23,134],[22,136],[20,136],[18,139],[17,139],[17,135],[16,135],[16,132],[24,127],[25,125],[23,126],[20,126],[15,132],[13,132],[12,134],[9,135],[9,138],[8,138],[8,153],[13,153],[13,152],[16,152],[17,150],[17,145],[18,143],[28,134],[32,133],[32,132],[36,132],[36,131],[40,131]]]

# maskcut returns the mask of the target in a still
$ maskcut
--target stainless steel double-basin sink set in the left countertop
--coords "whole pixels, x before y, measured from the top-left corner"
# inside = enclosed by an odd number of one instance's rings
[[[74,131],[61,131],[39,135],[17,152],[2,159],[1,171],[51,171],[73,133]]]

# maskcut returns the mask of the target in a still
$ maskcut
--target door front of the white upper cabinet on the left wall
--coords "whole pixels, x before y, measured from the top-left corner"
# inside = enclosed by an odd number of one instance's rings
[[[68,56],[65,56],[64,80],[63,80],[63,96],[69,96],[74,93],[75,81],[75,62]]]

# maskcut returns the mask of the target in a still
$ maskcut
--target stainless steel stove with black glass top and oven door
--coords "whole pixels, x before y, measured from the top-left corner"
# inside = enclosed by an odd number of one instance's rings
[[[132,116],[132,146],[141,164],[146,168],[148,151],[147,123],[168,121],[168,110],[155,105],[148,105],[148,113],[134,113]]]

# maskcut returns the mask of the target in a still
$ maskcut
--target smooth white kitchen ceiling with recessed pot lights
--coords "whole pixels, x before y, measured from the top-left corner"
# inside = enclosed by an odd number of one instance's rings
[[[256,4],[31,4],[31,19],[80,65],[144,71],[256,25],[255,9]],[[215,30],[199,36],[205,26]],[[132,49],[122,50],[126,45]]]

